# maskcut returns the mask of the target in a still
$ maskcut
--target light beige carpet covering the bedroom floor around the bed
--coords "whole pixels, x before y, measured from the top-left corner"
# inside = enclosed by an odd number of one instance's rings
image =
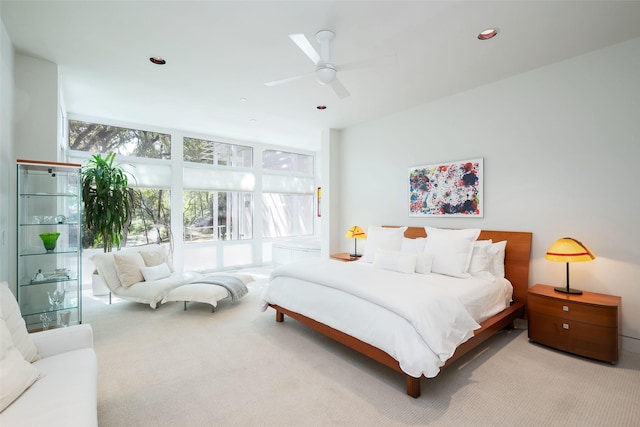
[[[152,310],[86,295],[100,426],[638,426],[640,355],[611,366],[501,332],[433,379],[405,379],[272,309]],[[524,326],[526,327],[526,325]]]

